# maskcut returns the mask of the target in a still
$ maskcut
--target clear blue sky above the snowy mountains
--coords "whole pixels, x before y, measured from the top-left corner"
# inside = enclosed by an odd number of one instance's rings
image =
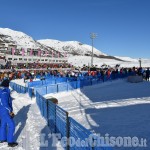
[[[0,0],[0,27],[80,41],[109,55],[150,58],[150,0]]]

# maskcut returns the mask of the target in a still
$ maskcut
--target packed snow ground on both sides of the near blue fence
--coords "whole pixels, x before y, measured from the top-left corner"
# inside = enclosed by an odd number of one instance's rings
[[[23,79],[14,80],[25,86]],[[147,147],[115,147],[115,150],[149,150],[150,149],[150,82],[129,83],[116,80],[87,86],[71,92],[47,94],[58,99],[59,106],[69,112],[69,116],[93,133],[114,137],[138,137],[146,139]],[[16,114],[15,138],[19,142],[17,150],[45,150],[40,147],[40,136],[47,136],[50,129],[41,117],[35,99],[27,94],[12,91],[13,107]],[[62,149],[60,146],[48,148]],[[7,144],[0,144],[0,150],[9,150]]]

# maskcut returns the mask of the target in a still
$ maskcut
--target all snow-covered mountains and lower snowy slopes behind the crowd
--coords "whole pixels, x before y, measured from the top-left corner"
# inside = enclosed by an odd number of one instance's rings
[[[52,39],[35,41],[31,36],[20,32],[14,31],[8,28],[0,28],[0,46],[17,47],[18,49],[27,48],[43,49],[65,52],[68,56],[68,61],[75,66],[91,65],[91,52],[92,47],[87,44],[80,43],[78,41],[58,41]],[[4,47],[5,47],[4,46]],[[98,49],[93,49],[94,53],[94,65],[101,66],[102,64],[115,66],[120,64],[122,67],[139,66],[138,59],[132,59],[130,57],[108,56]],[[118,58],[118,59],[116,59]],[[120,60],[119,60],[120,59]],[[123,61],[121,61],[123,60]],[[130,63],[129,63],[130,62]],[[2,64],[2,63],[0,63]],[[142,66],[150,67],[150,59],[142,59]]]

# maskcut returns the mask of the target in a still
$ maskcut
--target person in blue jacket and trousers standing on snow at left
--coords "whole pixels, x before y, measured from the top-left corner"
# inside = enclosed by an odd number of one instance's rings
[[[4,79],[0,87],[0,143],[7,142],[10,147],[18,145],[14,141],[15,124],[13,117],[9,80]]]

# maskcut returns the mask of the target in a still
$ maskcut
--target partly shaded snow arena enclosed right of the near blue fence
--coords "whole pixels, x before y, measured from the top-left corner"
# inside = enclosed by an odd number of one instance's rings
[[[129,83],[117,80],[84,87],[81,90],[48,94],[58,99],[59,106],[94,133],[147,140],[150,149],[150,82]],[[115,150],[124,150],[115,147]]]

